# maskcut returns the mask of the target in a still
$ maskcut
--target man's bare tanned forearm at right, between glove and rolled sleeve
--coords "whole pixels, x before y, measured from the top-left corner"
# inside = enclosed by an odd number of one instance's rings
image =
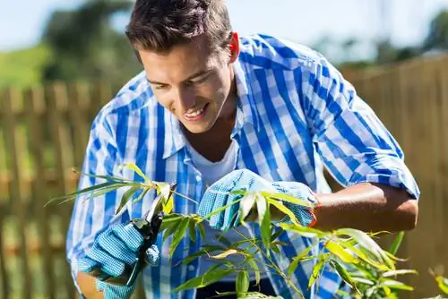
[[[340,192],[315,194],[315,228],[332,230],[350,227],[366,232],[413,229],[418,204],[404,190],[383,184],[358,184]]]

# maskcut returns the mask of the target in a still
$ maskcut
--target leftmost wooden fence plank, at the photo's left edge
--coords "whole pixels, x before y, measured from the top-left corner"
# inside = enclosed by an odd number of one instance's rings
[[[21,244],[21,261],[22,261],[22,298],[31,297],[31,288],[29,287],[31,276],[30,276],[30,262],[27,256],[27,215],[25,209],[23,209],[22,201],[22,188],[21,188],[21,145],[18,142],[17,136],[17,123],[13,111],[13,101],[22,101],[21,94],[18,90],[10,89],[5,91],[3,97],[3,107],[1,110],[4,111],[4,139],[6,144],[6,152],[10,154],[9,169],[13,176],[11,182],[11,202],[13,209],[15,211],[15,216],[18,218],[19,232],[18,237]]]

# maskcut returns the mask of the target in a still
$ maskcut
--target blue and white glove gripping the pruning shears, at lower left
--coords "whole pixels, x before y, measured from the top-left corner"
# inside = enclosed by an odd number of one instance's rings
[[[116,286],[103,281],[119,278],[126,267],[134,265],[144,243],[142,234],[133,224],[117,224],[100,233],[86,256],[78,261],[78,269],[97,278],[97,289],[105,299],[128,298],[135,290],[133,286]],[[146,251],[150,266],[159,264],[160,253],[155,244]],[[135,279],[136,281],[136,279]]]

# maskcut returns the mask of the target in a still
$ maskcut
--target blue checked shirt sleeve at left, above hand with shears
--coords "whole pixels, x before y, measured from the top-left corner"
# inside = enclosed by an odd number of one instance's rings
[[[119,176],[120,163],[113,125],[104,115],[99,114],[90,129],[78,190],[107,182],[90,175]],[[123,188],[94,198],[82,195],[74,201],[66,235],[66,257],[71,267],[74,286],[80,295],[82,295],[81,289],[76,281],[78,259],[90,249],[95,237],[101,231],[111,224],[129,220],[126,213],[116,215],[119,199],[123,195],[121,189]]]

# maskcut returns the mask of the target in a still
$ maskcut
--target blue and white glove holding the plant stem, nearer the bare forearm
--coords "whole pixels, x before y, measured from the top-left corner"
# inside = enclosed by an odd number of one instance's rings
[[[295,182],[271,183],[248,169],[240,169],[223,176],[205,191],[199,203],[198,215],[205,217],[213,210],[220,209],[233,201],[237,201],[242,197],[241,194],[228,193],[238,190],[244,190],[246,192],[283,192],[297,197],[302,201],[313,204],[317,203],[313,192],[305,184]],[[315,217],[311,208],[303,209],[289,202],[285,202],[285,206],[293,211],[297,220],[303,226],[312,226],[314,224]],[[209,222],[211,227],[220,230],[228,230],[232,227],[239,226],[239,202],[213,215]]]

